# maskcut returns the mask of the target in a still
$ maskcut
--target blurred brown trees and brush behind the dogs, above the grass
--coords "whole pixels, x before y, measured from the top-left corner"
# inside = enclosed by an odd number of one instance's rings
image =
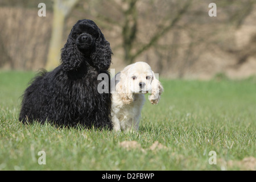
[[[216,17],[208,15],[212,2]],[[168,78],[256,73],[255,0],[0,0],[0,69],[55,68],[73,24],[85,18],[110,42],[117,71],[146,61]]]

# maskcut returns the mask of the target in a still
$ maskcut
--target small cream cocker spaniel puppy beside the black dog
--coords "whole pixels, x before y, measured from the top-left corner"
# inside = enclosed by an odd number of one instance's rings
[[[163,86],[156,79],[150,65],[144,62],[130,64],[112,78],[112,122],[115,131],[137,131],[144,94],[158,104]]]

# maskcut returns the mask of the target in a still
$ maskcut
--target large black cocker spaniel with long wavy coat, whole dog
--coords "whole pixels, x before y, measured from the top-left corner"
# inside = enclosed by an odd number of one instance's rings
[[[112,54],[100,28],[92,20],[79,20],[61,49],[59,67],[43,71],[24,92],[19,121],[112,129],[110,90],[97,91],[100,73],[110,80]]]

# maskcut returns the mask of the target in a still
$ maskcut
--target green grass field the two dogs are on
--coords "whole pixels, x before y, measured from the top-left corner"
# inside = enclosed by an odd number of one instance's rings
[[[146,102],[138,133],[25,126],[20,101],[32,72],[0,72],[0,170],[237,170],[255,158],[256,82],[161,80],[159,105]],[[141,147],[127,148],[123,141]],[[150,150],[158,141],[165,146]],[[46,152],[46,165],[38,152]],[[217,164],[208,163],[216,151]],[[254,162],[255,165],[255,162]]]

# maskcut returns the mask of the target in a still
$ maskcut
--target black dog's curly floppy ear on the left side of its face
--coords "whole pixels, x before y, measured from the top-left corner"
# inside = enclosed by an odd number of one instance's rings
[[[67,43],[61,49],[60,63],[63,65],[64,71],[76,70],[82,63],[83,56],[76,46],[76,41],[72,37],[73,29],[71,30]]]

